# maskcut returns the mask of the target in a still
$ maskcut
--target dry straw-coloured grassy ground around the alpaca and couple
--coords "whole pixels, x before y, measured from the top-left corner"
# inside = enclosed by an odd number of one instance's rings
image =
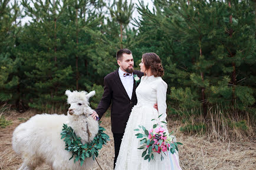
[[[27,121],[33,115],[34,112],[32,111],[27,111],[23,114],[9,112],[9,114],[5,115],[5,118],[9,121],[11,120],[12,124],[5,128],[0,128],[0,169],[18,169],[21,166],[21,157],[12,150],[12,132],[16,126]],[[105,132],[110,136],[111,141],[106,146],[103,146],[97,160],[104,170],[113,169],[114,142],[111,134],[111,122],[108,117],[104,117],[101,120],[101,126],[106,128]],[[182,146],[179,146],[180,166],[182,169],[255,169],[255,136],[238,141],[209,142],[206,136],[182,134],[179,131],[180,126],[180,122],[168,120],[169,131],[174,131],[177,140],[183,143]],[[43,164],[37,169],[50,170],[51,168]],[[100,168],[95,164],[91,169]]]

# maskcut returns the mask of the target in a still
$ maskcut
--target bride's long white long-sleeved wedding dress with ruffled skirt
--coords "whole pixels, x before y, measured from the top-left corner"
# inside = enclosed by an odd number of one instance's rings
[[[135,134],[139,125],[145,126],[147,130],[153,128],[154,124],[160,122],[166,128],[166,91],[167,84],[161,77],[142,76],[139,86],[136,89],[137,105],[135,105],[130,114],[129,120],[124,131],[122,144],[120,146],[119,156],[117,157],[115,170],[165,170],[181,169],[179,166],[179,156],[177,154],[162,154],[164,159],[161,161],[160,154],[154,152],[155,160],[144,160],[142,152],[145,149],[137,149],[140,145],[140,139]],[[153,108],[157,103],[158,111]],[[160,118],[157,118],[159,115]],[[152,119],[155,119],[152,121]]]

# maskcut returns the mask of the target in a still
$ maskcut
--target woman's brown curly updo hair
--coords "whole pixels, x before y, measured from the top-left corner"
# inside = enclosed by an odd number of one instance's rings
[[[163,66],[160,57],[155,52],[148,52],[142,55],[143,64],[145,69],[150,69],[152,74],[156,76],[163,76]]]

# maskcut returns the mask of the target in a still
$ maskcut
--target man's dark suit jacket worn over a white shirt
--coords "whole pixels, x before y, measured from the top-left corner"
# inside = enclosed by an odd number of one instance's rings
[[[140,71],[134,71],[133,74],[136,74],[139,78],[143,76],[143,73]],[[135,90],[138,85],[139,83],[136,85],[133,79],[133,94],[132,99],[130,99],[119,77],[118,69],[104,77],[104,93],[95,111],[99,118],[101,118],[112,103],[111,130],[113,134],[124,133],[130,112],[133,106],[137,104]]]

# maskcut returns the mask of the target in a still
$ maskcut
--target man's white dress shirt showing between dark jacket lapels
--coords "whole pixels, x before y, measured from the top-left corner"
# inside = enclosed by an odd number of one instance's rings
[[[124,89],[126,90],[127,95],[129,96],[130,99],[132,99],[132,95],[133,95],[133,74],[123,76],[123,74],[126,74],[126,72],[122,71],[122,69],[120,69],[120,68],[118,69],[118,73],[119,73],[120,79],[122,81],[122,84],[124,86]]]

